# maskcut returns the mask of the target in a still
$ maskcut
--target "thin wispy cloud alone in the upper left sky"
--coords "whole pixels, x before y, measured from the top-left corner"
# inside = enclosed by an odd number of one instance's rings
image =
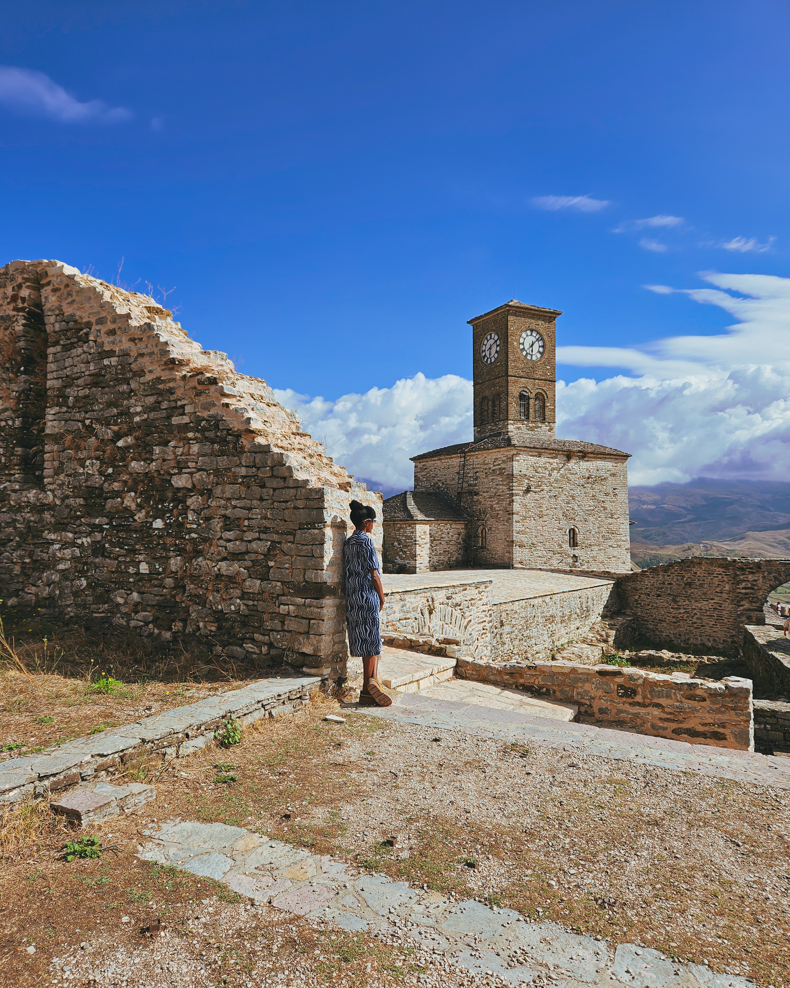
[[[0,65],[0,104],[22,114],[50,117],[63,124],[114,124],[131,114],[102,100],[80,103],[43,72]]]

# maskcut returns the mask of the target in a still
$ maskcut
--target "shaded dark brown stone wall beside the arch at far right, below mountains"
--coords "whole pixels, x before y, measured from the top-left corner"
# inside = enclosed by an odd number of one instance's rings
[[[618,593],[641,637],[677,651],[737,655],[744,626],[765,623],[765,599],[788,577],[787,559],[695,556],[621,577]]]

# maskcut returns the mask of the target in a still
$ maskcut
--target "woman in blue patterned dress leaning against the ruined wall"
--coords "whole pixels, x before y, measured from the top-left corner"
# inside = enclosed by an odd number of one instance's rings
[[[378,614],[384,607],[384,588],[378,572],[378,556],[373,539],[376,513],[369,505],[352,501],[355,533],[346,539],[343,549],[346,576],[346,625],[349,651],[361,656],[364,682],[359,694],[361,706],[389,706],[392,700],[378,682],[378,657],[381,654],[381,630]]]

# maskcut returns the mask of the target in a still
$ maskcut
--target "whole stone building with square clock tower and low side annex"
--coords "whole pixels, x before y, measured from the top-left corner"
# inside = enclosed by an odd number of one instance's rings
[[[469,320],[474,439],[412,457],[415,501],[439,493],[468,516],[454,565],[630,570],[629,454],[556,437],[561,314],[512,299]],[[444,568],[421,547],[425,523],[396,510],[403,496],[384,505],[385,565]]]

